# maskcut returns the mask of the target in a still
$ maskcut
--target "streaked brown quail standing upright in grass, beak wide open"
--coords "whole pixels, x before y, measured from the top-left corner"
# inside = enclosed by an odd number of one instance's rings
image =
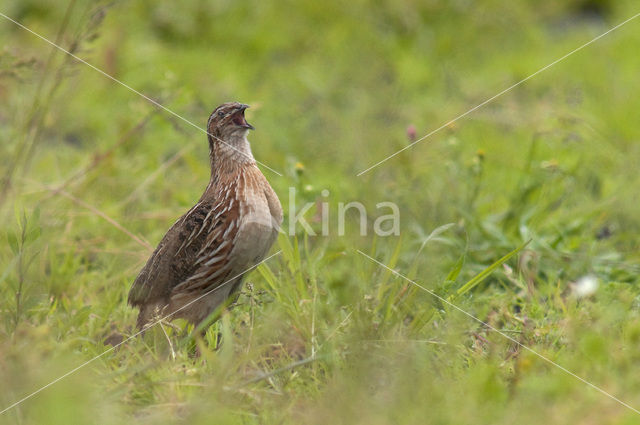
[[[282,206],[251,153],[247,108],[224,103],[209,117],[209,184],[164,235],[129,291],[141,330],[177,318],[201,327],[237,299],[247,270],[277,238]]]

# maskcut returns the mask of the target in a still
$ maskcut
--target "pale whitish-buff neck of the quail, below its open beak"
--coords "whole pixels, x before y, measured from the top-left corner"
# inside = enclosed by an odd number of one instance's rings
[[[209,158],[211,161],[210,186],[225,175],[241,172],[242,168],[256,163],[246,133],[228,137],[224,142],[214,140],[214,143],[210,143],[209,146]]]

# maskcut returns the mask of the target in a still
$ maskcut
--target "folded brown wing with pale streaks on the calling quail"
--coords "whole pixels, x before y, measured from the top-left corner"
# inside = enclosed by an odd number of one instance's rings
[[[166,301],[174,288],[201,273],[203,265],[211,274],[223,267],[237,232],[237,215],[233,203],[196,204],[162,238],[133,282],[129,304]]]

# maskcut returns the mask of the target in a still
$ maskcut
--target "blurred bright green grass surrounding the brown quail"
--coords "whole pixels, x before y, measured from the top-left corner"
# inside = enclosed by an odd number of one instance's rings
[[[298,207],[328,202],[331,222],[280,236],[200,358],[184,323],[165,328],[175,359],[156,327],[0,423],[637,423],[514,341],[640,409],[640,18],[356,176],[410,125],[429,133],[637,8],[3,3],[198,126],[224,101],[253,105],[285,227],[290,187]],[[2,410],[135,332],[128,289],[209,170],[199,130],[4,18],[0,36]],[[338,235],[350,201],[368,236],[356,214]],[[373,235],[384,201],[400,236]],[[581,298],[586,275],[599,286]]]

